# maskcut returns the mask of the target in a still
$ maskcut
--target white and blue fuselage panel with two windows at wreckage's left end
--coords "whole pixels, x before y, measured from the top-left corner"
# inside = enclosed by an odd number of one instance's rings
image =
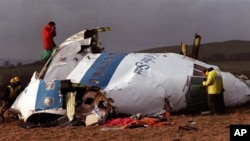
[[[24,121],[42,110],[59,109],[62,106],[60,81],[45,82],[33,79],[17,97],[11,110],[20,114]],[[60,113],[60,110],[55,110]]]

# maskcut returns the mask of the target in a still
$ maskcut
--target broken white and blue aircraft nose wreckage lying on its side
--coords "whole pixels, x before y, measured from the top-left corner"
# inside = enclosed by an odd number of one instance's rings
[[[86,125],[103,123],[114,111],[152,116],[201,112],[207,107],[201,72],[209,67],[223,77],[226,106],[249,101],[245,81],[197,59],[176,53],[104,52],[98,33],[108,30],[83,30],[65,40],[41,72],[33,74],[11,110],[24,122],[83,117]]]

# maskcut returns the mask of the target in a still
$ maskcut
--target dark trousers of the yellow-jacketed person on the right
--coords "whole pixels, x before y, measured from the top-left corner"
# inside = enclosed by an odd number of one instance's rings
[[[225,112],[223,94],[208,94],[208,100],[212,114],[222,114]]]

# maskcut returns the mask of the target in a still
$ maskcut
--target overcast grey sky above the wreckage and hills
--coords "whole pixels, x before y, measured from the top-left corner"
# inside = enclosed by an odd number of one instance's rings
[[[40,59],[42,28],[57,24],[56,43],[86,28],[108,52],[250,39],[250,0],[1,0],[0,58]]]

